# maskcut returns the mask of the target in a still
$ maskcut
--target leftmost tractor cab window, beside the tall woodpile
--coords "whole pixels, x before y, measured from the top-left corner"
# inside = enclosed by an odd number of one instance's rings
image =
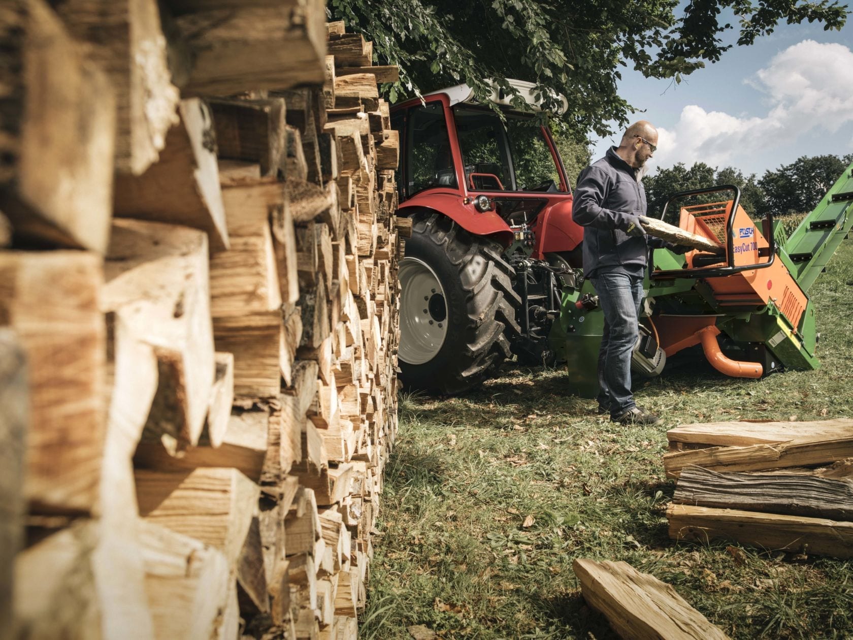
[[[456,169],[440,102],[409,109],[406,144],[406,195],[429,187],[456,189]]]

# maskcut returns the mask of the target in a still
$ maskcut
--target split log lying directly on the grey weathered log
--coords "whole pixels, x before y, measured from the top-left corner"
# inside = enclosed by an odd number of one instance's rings
[[[853,434],[796,439],[775,445],[717,446],[674,451],[664,454],[664,469],[668,477],[677,478],[682,469],[688,466],[717,471],[760,471],[830,464],[845,457],[853,457]]]

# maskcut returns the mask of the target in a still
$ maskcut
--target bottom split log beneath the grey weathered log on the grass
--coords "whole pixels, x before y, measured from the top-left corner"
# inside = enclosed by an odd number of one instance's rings
[[[670,521],[670,538],[675,540],[707,544],[709,540],[725,538],[766,550],[853,557],[853,522],[671,503],[666,517]]]

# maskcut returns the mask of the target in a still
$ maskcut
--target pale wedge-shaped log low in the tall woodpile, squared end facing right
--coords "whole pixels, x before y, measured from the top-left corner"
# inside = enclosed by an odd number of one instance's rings
[[[240,556],[258,508],[258,486],[235,468],[189,473],[137,468],[136,499],[148,522],[210,544],[230,566]]]

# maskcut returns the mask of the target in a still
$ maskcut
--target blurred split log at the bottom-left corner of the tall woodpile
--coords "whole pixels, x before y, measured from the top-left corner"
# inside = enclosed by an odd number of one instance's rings
[[[92,571],[97,522],[80,519],[15,558],[16,640],[101,637]]]

